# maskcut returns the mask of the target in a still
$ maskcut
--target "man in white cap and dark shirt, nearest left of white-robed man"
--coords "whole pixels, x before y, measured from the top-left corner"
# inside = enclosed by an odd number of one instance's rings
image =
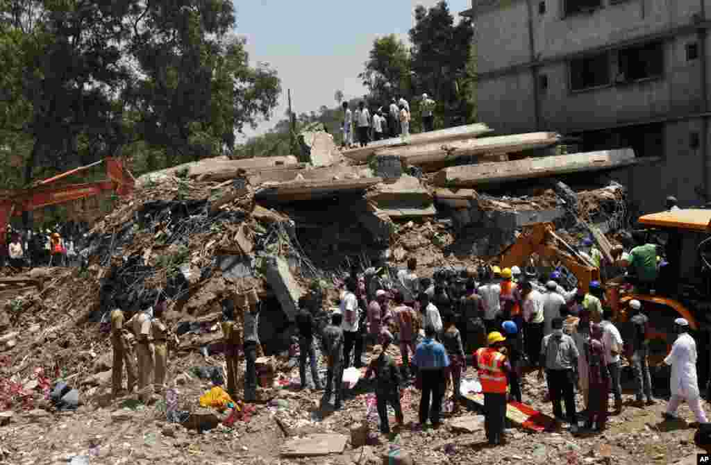
[[[649,375],[649,365],[647,363],[647,356],[649,355],[649,341],[647,340],[649,319],[642,313],[641,309],[642,304],[640,301],[636,299],[629,301],[629,321],[632,324],[632,341],[629,345],[629,359],[632,362],[634,380],[637,386],[637,407],[643,405],[643,395],[647,397],[647,405],[654,405],[652,398],[652,380]]]

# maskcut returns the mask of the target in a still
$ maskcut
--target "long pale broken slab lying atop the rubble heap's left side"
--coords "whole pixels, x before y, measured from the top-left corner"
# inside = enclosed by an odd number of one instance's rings
[[[212,159],[202,159],[193,161],[173,168],[153,171],[140,176],[136,180],[137,186],[146,186],[151,182],[159,182],[169,176],[176,176],[178,173],[186,172],[188,178],[198,178],[201,181],[228,181],[237,177],[237,171],[245,170],[247,173],[260,171],[262,169],[273,169],[277,167],[296,166],[299,161],[295,156],[262,156],[252,159],[231,160],[226,156],[218,156]]]

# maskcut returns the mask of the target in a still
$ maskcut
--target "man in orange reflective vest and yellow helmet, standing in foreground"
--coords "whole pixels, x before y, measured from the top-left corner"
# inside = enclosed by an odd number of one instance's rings
[[[501,444],[506,425],[506,402],[508,393],[507,375],[511,365],[506,356],[506,338],[498,331],[489,333],[488,347],[474,353],[474,365],[479,370],[479,383],[484,393],[484,430],[492,445]]]

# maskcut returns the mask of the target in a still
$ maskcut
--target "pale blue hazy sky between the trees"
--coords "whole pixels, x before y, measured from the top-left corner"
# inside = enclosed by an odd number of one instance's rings
[[[471,8],[471,0],[449,0],[454,21]],[[429,7],[437,0],[235,0],[236,33],[247,39],[250,62],[269,63],[282,80],[279,107],[272,120],[256,131],[245,128],[246,141],[267,132],[284,117],[287,89],[292,90],[296,114],[318,112],[321,105],[336,106],[336,90],[346,99],[366,90],[358,73],[376,37],[395,33],[408,43],[415,24],[415,6]]]

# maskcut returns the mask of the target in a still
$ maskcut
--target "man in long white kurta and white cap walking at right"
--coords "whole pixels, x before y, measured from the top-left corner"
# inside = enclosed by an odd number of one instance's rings
[[[682,400],[696,415],[696,421],[706,423],[706,414],[701,407],[699,383],[696,377],[696,343],[689,335],[689,322],[683,318],[675,319],[674,326],[679,334],[664,363],[671,366],[671,398],[663,417],[677,418],[676,410]]]

